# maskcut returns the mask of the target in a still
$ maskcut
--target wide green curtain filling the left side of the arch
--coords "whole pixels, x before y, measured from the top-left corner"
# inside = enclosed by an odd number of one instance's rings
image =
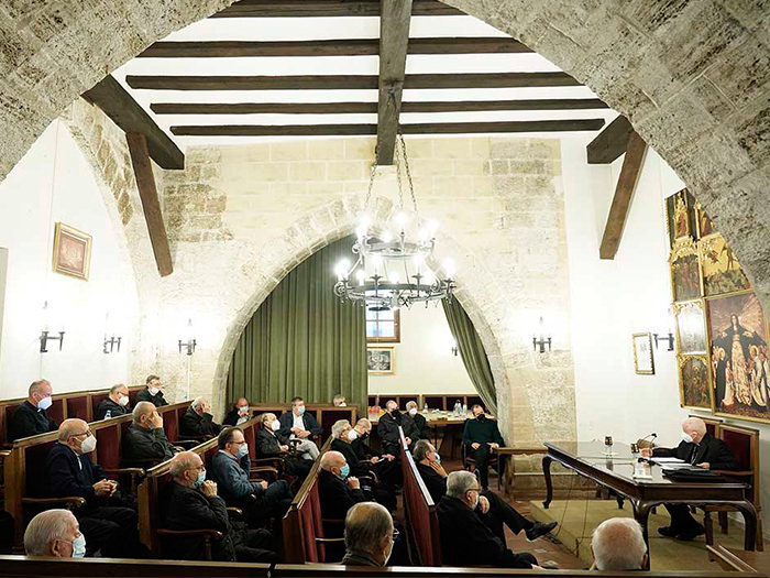
[[[314,253],[273,290],[246,325],[228,374],[228,402],[331,403],[336,393],[366,406],[364,309],[334,297],[334,265],[352,260],[353,238]]]

